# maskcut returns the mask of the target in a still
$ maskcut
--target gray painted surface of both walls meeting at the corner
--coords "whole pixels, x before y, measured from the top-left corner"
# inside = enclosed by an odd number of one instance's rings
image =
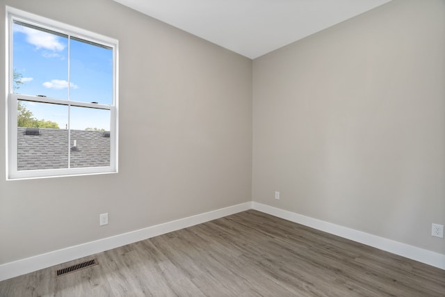
[[[0,264],[252,195],[445,253],[430,236],[445,223],[444,1],[391,1],[257,58],[253,81],[248,58],[111,0],[0,3],[120,40],[120,172],[1,170]],[[3,118],[0,156],[5,137]]]

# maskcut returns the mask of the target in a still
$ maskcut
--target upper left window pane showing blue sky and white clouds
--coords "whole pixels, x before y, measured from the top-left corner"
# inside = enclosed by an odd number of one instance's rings
[[[67,36],[14,22],[13,72],[14,93],[68,99]]]

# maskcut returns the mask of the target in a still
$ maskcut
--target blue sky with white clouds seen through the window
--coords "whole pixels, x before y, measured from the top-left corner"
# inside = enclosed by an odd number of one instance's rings
[[[15,93],[112,104],[112,49],[14,24],[13,69],[22,75]],[[26,108],[39,120],[57,122],[60,128],[67,125],[67,106],[26,102]],[[72,107],[70,127],[109,130],[109,120],[109,111]]]

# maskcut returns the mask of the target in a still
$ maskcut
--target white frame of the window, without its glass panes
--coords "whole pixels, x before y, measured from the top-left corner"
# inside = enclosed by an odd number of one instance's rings
[[[56,22],[23,10],[6,6],[6,178],[31,179],[41,177],[63,177],[71,175],[94,175],[118,172],[118,40],[104,35],[92,33],[75,26]],[[38,97],[13,93],[13,21],[24,22],[57,33],[70,35],[74,38],[87,40],[113,49],[113,101],[111,105],[89,102],[77,102],[67,99]],[[94,109],[109,110],[110,120],[110,166],[86,168],[58,168],[40,170],[17,170],[17,102],[23,99],[32,102],[62,104]],[[67,143],[68,154],[70,146]],[[70,166],[70,162],[68,162]]]

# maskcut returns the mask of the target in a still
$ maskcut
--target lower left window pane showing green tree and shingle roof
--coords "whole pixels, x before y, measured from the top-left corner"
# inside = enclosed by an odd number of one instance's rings
[[[17,170],[68,167],[68,131],[58,123],[62,118],[67,122],[67,106],[17,101]]]

